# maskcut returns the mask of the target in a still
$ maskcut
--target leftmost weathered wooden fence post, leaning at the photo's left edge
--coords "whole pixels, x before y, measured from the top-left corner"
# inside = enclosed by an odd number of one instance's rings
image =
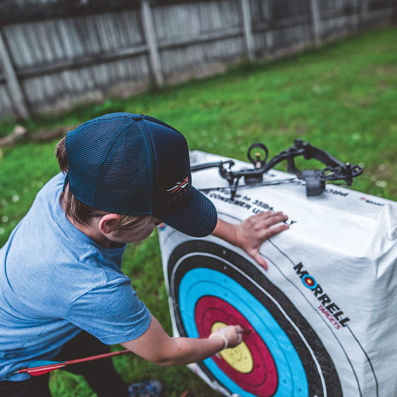
[[[11,102],[14,105],[18,115],[27,119],[29,117],[29,111],[26,106],[25,97],[21,86],[19,85],[18,77],[12,66],[11,58],[8,54],[7,47],[4,42],[2,32],[0,30],[0,63],[5,75],[5,83],[8,88]]]

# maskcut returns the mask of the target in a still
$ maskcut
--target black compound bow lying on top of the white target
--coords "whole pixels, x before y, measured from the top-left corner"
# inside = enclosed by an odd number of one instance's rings
[[[265,158],[261,160],[260,153],[255,153],[255,158],[251,156],[253,149],[260,148],[265,151]],[[306,160],[315,159],[326,165],[323,169],[307,169],[299,170],[295,166],[294,158],[303,156]],[[285,179],[276,182],[264,182],[264,174],[281,161],[287,161],[287,171],[295,174],[298,179],[305,181],[307,196],[319,196],[325,190],[325,184],[329,181],[343,180],[347,186],[351,186],[353,178],[362,174],[363,169],[358,165],[350,163],[342,163],[331,154],[316,146],[312,146],[309,142],[301,139],[294,139],[294,146],[281,151],[267,163],[268,150],[263,143],[253,143],[247,152],[248,160],[254,165],[254,168],[246,168],[239,171],[232,171],[231,167],[235,164],[232,160],[219,161],[214,163],[206,163],[193,166],[192,172],[203,170],[206,168],[219,168],[219,174],[229,183],[231,199],[234,198],[237,186],[242,177],[244,177],[245,185],[240,187],[253,187],[276,185],[281,183],[296,183],[296,178]],[[209,188],[200,190],[219,190],[224,188]]]

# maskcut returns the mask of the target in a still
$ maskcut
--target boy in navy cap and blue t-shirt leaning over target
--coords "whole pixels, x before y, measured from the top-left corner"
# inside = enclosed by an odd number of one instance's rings
[[[270,228],[287,217],[217,220],[211,201],[191,186],[185,138],[148,116],[90,120],[67,133],[56,155],[62,173],[38,193],[0,250],[0,395],[50,396],[48,375],[15,371],[34,360],[101,354],[109,344],[159,365],[201,361],[237,346],[238,325],[204,339],[168,336],[120,269],[126,243],[145,239],[162,221],[194,237],[213,233],[266,267],[259,247],[287,228]],[[140,393],[127,388],[110,360],[70,370],[98,396]],[[157,384],[144,386],[142,396],[159,394]]]

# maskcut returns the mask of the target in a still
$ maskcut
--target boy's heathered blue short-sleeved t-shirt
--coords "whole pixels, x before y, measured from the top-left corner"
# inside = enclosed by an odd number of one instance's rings
[[[105,249],[66,218],[60,173],[38,193],[0,249],[0,380],[51,360],[85,330],[106,344],[147,330],[150,313],[120,269],[125,245]]]

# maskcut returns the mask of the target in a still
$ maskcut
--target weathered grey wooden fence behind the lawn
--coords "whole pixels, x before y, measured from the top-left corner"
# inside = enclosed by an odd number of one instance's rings
[[[0,0],[0,115],[128,96],[396,20],[397,0]]]

